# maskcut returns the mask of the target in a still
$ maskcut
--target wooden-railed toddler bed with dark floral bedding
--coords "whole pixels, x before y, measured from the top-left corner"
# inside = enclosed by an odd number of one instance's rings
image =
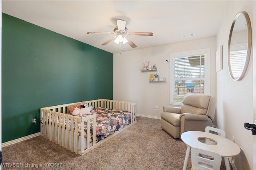
[[[41,108],[41,136],[83,155],[136,122],[136,102],[84,101],[97,111],[82,117],[70,115],[80,103]]]

